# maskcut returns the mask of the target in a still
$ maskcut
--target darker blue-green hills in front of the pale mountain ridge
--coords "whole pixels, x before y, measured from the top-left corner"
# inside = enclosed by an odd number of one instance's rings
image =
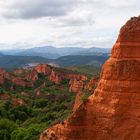
[[[0,55],[0,67],[13,69],[18,67],[33,66],[38,63],[47,63],[58,67],[69,66],[82,66],[91,65],[95,67],[101,67],[101,65],[108,58],[107,55],[68,55],[62,56],[57,59],[47,59],[40,56],[12,56],[12,55]]]

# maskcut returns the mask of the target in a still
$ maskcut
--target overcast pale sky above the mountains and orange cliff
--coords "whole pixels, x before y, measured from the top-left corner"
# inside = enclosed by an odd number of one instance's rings
[[[140,0],[0,0],[0,50],[111,48]]]

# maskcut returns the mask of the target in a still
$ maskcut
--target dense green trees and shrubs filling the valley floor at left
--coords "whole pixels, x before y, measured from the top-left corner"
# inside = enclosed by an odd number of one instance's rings
[[[43,74],[38,77],[35,87],[12,85],[14,91],[5,92],[11,99],[0,100],[0,119],[14,121],[16,125],[11,132],[7,128],[0,129],[0,140],[38,140],[44,129],[63,122],[72,111],[76,94],[69,93],[69,81],[55,84]],[[36,89],[41,95],[36,96]],[[21,94],[22,91],[25,94]],[[18,98],[23,100],[24,105],[15,106],[13,101]]]

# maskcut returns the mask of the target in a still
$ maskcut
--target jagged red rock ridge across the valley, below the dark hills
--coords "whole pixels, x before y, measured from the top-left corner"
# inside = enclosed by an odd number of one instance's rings
[[[32,87],[39,79],[39,74],[44,74],[48,80],[59,84],[63,80],[86,80],[87,77],[83,74],[75,73],[66,69],[55,68],[48,64],[38,64],[30,69],[16,69],[10,73],[0,68],[0,84],[6,83],[8,79],[11,84]],[[11,87],[11,89],[13,89]]]

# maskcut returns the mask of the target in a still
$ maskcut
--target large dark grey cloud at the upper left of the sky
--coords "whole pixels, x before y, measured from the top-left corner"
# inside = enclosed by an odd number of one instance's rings
[[[41,18],[67,15],[77,0],[9,0],[3,16],[6,18]]]

